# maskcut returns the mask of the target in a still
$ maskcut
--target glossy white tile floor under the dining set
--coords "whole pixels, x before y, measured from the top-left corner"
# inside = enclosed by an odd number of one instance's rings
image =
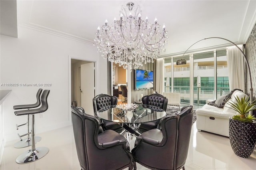
[[[6,142],[0,170],[80,170],[72,126],[37,134],[42,140],[36,147],[50,149],[43,158],[28,164],[17,164],[16,157],[28,150],[14,148],[17,140]],[[131,148],[135,137],[130,138]],[[236,156],[232,151],[229,138],[198,132],[196,123],[192,127],[190,147],[185,164],[186,170],[256,170],[256,151],[249,158]],[[127,170],[128,168],[126,168]],[[138,170],[147,168],[137,163]]]

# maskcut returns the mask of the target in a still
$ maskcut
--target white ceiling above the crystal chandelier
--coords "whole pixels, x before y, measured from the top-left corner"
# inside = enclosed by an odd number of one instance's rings
[[[93,43],[94,33],[107,19],[116,17],[122,0],[31,0],[17,1],[18,24],[29,28]],[[246,43],[256,23],[256,0],[133,0],[142,10],[142,19],[166,25],[168,45],[162,55],[186,51],[190,45],[208,37],[222,37]],[[224,40],[205,40],[191,49],[227,44]],[[96,47],[95,47],[96,50]]]

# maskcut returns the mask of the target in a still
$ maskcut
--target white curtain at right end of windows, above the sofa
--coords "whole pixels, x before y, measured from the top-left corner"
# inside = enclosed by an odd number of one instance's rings
[[[227,61],[230,90],[241,89],[245,92],[244,57],[237,47],[227,48]]]

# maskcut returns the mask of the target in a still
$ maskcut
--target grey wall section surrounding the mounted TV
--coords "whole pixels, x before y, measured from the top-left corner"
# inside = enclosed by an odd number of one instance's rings
[[[143,65],[142,67],[139,67],[138,69],[143,69],[143,70],[150,70],[154,71],[154,89],[155,89],[155,80],[156,80],[156,61],[154,63],[147,63]],[[131,73],[131,102],[134,103],[134,101],[138,101],[138,99],[141,98],[141,95],[150,95],[153,93],[153,89],[146,89],[146,90],[135,90],[135,73],[134,69],[132,69]]]

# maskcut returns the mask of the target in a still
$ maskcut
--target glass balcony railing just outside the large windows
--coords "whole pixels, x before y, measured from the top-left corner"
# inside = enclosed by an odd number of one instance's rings
[[[165,92],[171,92],[171,86],[164,87]],[[180,93],[180,102],[190,104],[190,87],[189,86],[174,86],[173,92]],[[221,95],[230,93],[229,87],[217,87],[217,98]],[[214,87],[194,87],[193,91],[194,105],[203,106],[208,99],[214,99]]]

